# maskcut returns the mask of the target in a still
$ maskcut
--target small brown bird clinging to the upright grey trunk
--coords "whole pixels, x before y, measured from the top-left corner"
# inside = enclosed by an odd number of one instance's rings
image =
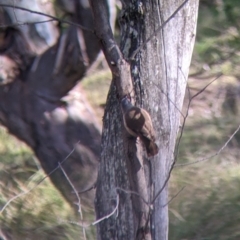
[[[127,96],[121,100],[123,122],[127,132],[139,137],[144,143],[148,157],[158,153],[158,146],[155,143],[155,133],[149,113],[143,108],[131,104]]]

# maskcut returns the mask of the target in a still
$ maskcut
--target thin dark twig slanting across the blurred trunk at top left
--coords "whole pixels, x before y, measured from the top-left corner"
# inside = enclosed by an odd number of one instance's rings
[[[38,15],[45,16],[45,17],[49,17],[49,18],[53,19],[53,21],[58,21],[58,22],[61,22],[61,23],[66,23],[66,24],[69,24],[69,25],[72,25],[72,26],[75,26],[75,27],[79,27],[79,28],[81,28],[81,29],[84,30],[84,31],[88,31],[88,32],[94,33],[94,31],[93,31],[92,29],[86,28],[86,27],[82,26],[81,24],[74,23],[74,22],[71,22],[71,21],[68,21],[68,20],[63,20],[63,19],[54,17],[54,16],[49,15],[49,14],[46,14],[46,13],[33,11],[33,10],[31,10],[31,9],[24,8],[24,7],[13,6],[13,5],[11,5],[11,4],[2,4],[2,3],[0,3],[0,6],[1,6],[1,7],[6,7],[6,8],[20,9],[20,10],[27,11],[27,12],[30,12],[30,13],[34,13],[34,14],[38,14]]]

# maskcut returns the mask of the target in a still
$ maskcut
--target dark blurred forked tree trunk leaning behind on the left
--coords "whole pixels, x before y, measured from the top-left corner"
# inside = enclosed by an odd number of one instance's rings
[[[93,28],[91,10],[83,2],[75,1],[78,12],[73,20]],[[18,70],[11,81],[1,79],[1,124],[33,149],[46,173],[75,147],[62,167],[76,189],[85,190],[97,177],[100,127],[82,90],[78,87],[69,91],[99,53],[97,38],[92,32],[71,26],[54,46],[34,56],[15,27],[7,27],[1,33],[1,54],[13,61]],[[51,174],[50,179],[76,208],[76,196],[61,170]],[[93,194],[87,192],[81,197],[88,201]]]

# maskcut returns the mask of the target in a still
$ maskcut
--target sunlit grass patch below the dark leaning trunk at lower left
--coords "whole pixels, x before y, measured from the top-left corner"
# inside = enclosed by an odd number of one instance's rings
[[[0,226],[12,239],[83,239],[80,222],[48,178],[32,151],[0,128]],[[29,192],[29,190],[31,190]],[[22,194],[26,193],[26,194]],[[13,197],[14,201],[9,202]],[[84,222],[94,221],[93,210],[83,209]],[[74,222],[74,223],[72,223]],[[89,239],[94,228],[86,229]]]

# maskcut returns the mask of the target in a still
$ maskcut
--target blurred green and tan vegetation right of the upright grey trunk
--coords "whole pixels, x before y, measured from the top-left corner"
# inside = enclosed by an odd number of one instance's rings
[[[214,155],[239,126],[240,1],[200,1],[190,69],[194,98],[177,164]],[[206,161],[176,166],[170,180],[170,240],[240,239],[240,132]],[[174,196],[185,187],[175,198]]]

